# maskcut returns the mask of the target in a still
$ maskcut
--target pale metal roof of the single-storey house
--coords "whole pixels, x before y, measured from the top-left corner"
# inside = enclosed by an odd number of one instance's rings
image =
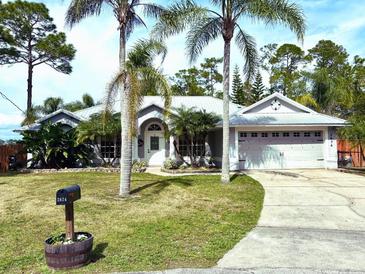
[[[299,105],[298,103],[288,99],[285,96],[274,94],[269,96],[268,98],[272,98],[273,96],[278,96],[280,99],[283,99],[290,104]],[[260,102],[254,104],[253,107],[259,105],[267,101],[265,98]],[[145,109],[149,106],[157,106],[160,108],[164,108],[164,100],[160,96],[145,96],[143,99],[143,103],[141,109]],[[207,112],[214,112],[217,115],[222,115],[223,113],[223,100],[210,97],[210,96],[173,96],[171,102],[171,110],[174,111],[175,108],[186,107],[192,108],[195,107],[197,109],[203,109]],[[346,125],[346,121],[343,119],[331,117],[325,114],[321,114],[310,110],[304,106],[299,105],[302,110],[305,112],[294,112],[294,113],[246,113],[246,110],[253,109],[252,106],[246,108],[234,103],[230,103],[230,126],[295,126],[295,125],[313,125],[313,126],[344,126]],[[37,121],[37,123],[29,126],[23,127],[21,130],[25,129],[36,129],[40,123],[44,120],[49,119],[51,116],[59,112],[65,112],[79,120],[88,120],[91,115],[101,112],[104,109],[103,105],[97,105],[94,107],[90,107],[87,109],[79,110],[74,113],[59,110],[48,116],[45,116]],[[307,111],[308,110],[308,111]],[[116,101],[113,106],[113,112],[120,112],[120,101]],[[221,125],[220,122],[218,124]]]

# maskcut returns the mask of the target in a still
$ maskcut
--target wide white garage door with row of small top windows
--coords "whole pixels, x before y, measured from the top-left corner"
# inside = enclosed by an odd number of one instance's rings
[[[323,168],[321,131],[239,132],[240,169]]]

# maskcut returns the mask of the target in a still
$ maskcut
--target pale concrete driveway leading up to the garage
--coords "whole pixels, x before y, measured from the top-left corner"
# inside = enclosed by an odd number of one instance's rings
[[[258,226],[218,267],[365,273],[365,177],[329,170],[248,175],[265,188],[264,208]]]

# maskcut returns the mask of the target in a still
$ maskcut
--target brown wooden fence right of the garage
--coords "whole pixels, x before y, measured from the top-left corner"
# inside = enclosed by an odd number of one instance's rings
[[[337,140],[337,151],[339,163],[342,159],[352,159],[352,167],[365,167],[365,161],[363,155],[365,154],[365,148],[360,150],[360,146],[354,147],[347,140]]]

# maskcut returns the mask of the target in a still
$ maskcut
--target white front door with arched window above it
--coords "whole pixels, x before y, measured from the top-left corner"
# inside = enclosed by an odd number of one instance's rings
[[[145,133],[145,159],[150,166],[162,165],[165,161],[165,138],[162,127],[152,124]]]

